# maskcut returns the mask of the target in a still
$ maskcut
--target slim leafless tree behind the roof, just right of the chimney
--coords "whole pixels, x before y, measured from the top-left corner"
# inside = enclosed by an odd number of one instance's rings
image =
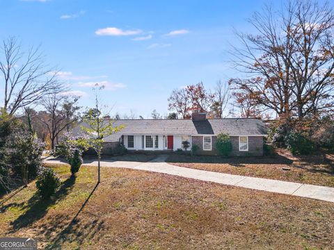
[[[230,86],[228,83],[222,83],[220,80],[216,83],[214,88],[214,103],[212,103],[211,110],[215,118],[223,118],[223,113],[228,106],[231,99]]]

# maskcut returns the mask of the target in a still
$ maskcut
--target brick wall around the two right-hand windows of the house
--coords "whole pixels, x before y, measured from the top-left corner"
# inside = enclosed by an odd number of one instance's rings
[[[212,151],[203,150],[203,137],[193,136],[193,144],[198,145],[198,153],[201,155],[218,155],[216,151],[216,136],[212,136]],[[239,136],[231,136],[232,156],[262,156],[263,138],[262,136],[248,136],[248,151],[239,151]]]

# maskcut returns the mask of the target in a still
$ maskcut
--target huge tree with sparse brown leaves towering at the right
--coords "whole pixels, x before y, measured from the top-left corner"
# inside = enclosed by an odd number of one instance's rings
[[[238,33],[234,89],[280,117],[319,115],[334,108],[334,11],[328,3],[287,1],[283,10],[255,12],[256,35]]]

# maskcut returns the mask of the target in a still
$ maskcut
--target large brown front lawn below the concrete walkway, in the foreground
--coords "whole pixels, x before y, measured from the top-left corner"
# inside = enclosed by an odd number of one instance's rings
[[[47,249],[333,249],[333,203],[132,169],[54,167],[61,188],[35,183],[0,200],[1,236]],[[93,192],[94,190],[94,192]],[[14,192],[14,191],[13,191]]]

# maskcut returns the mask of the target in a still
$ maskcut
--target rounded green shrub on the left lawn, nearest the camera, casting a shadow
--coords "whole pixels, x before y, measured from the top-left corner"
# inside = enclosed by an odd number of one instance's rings
[[[43,199],[51,197],[59,185],[61,185],[61,180],[51,168],[45,168],[36,181],[36,188]]]

